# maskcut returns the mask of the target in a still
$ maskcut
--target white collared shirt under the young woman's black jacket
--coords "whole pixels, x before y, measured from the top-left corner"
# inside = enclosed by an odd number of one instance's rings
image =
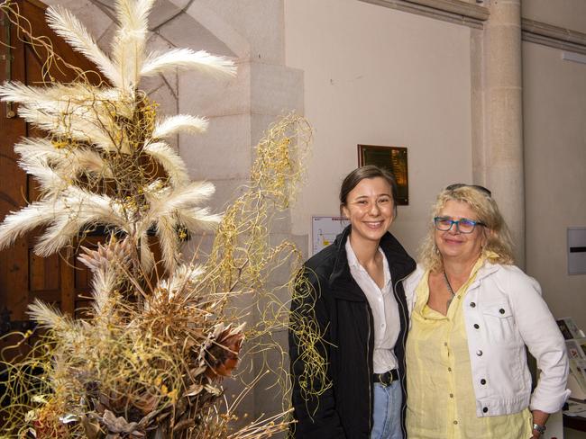
[[[371,275],[358,262],[350,245],[350,239],[346,241],[346,255],[350,273],[371,306],[374,318],[374,352],[372,363],[375,373],[384,373],[397,368],[397,357],[393,349],[397,343],[400,331],[400,319],[398,316],[398,304],[393,294],[393,285],[390,279],[389,263],[387,257],[379,247],[382,255],[384,286],[379,288]]]

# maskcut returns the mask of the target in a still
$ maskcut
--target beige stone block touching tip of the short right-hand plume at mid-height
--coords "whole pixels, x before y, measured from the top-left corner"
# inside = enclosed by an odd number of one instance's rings
[[[247,179],[251,168],[251,118],[210,118],[204,134],[179,136],[180,154],[193,179]]]

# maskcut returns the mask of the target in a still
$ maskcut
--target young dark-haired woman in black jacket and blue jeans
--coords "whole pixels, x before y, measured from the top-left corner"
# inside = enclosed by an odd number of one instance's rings
[[[289,331],[295,437],[405,437],[402,281],[416,264],[388,231],[395,194],[376,166],[347,175],[340,208],[350,225],[299,275]]]

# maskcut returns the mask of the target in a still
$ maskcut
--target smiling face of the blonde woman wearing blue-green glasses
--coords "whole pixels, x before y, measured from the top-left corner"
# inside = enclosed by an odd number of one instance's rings
[[[457,221],[472,219],[479,221],[476,213],[467,202],[450,200],[446,202],[438,217],[447,217]],[[484,227],[477,224],[472,233],[461,233],[455,224],[446,231],[435,229],[435,245],[445,259],[453,259],[462,263],[472,263],[481,255],[482,246],[486,241]]]

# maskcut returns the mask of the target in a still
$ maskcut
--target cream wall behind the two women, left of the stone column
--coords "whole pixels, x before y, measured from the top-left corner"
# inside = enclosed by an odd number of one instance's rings
[[[413,255],[445,184],[472,182],[470,30],[356,0],[286,0],[288,67],[315,129],[292,231],[336,215],[357,144],[408,148],[409,205],[391,231]]]

